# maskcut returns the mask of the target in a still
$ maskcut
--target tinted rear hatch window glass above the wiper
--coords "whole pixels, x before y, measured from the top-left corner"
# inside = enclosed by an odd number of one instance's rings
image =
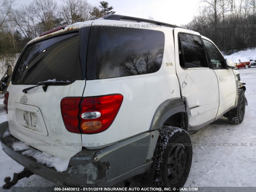
[[[27,46],[16,66],[12,82],[38,84],[82,79],[81,65],[78,64],[78,45],[77,32]]]

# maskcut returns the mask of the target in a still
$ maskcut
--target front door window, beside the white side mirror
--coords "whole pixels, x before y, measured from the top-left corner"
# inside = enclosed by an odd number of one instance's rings
[[[206,52],[208,53],[208,56],[210,57],[212,68],[221,68],[224,67],[224,58],[222,54],[219,52],[219,50],[212,44],[211,42],[207,40],[204,41],[204,46],[206,49]]]

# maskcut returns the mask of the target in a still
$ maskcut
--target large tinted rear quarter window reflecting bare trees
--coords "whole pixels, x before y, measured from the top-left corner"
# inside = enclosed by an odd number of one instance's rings
[[[86,79],[154,73],[160,69],[164,33],[136,28],[91,28]]]

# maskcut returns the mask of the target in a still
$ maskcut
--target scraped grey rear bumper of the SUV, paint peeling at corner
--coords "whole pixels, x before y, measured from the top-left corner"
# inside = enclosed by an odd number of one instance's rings
[[[12,144],[18,140],[4,136],[8,122],[0,124],[0,141],[6,154],[25,168],[59,186],[112,186],[132,176],[142,174],[153,164],[152,157],[158,131],[144,133],[112,146],[97,150],[82,149],[70,158],[68,168],[57,172],[36,159],[14,151]],[[154,135],[155,136],[152,136]],[[3,137],[4,136],[4,137]]]

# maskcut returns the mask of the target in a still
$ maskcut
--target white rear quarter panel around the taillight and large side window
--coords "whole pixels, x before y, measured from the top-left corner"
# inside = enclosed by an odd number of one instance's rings
[[[116,21],[105,20],[103,23],[101,20],[96,20],[93,24],[114,25]],[[120,24],[127,24],[128,27],[131,25],[130,22],[120,22]],[[142,24],[136,25],[145,29]],[[180,98],[175,69],[173,29],[164,27],[146,29],[164,32],[164,55],[160,70],[152,74],[86,81],[84,97],[122,94],[124,100],[114,122],[107,130],[98,134],[82,134],[84,146],[101,148],[146,132],[150,128],[158,106],[170,98]]]

